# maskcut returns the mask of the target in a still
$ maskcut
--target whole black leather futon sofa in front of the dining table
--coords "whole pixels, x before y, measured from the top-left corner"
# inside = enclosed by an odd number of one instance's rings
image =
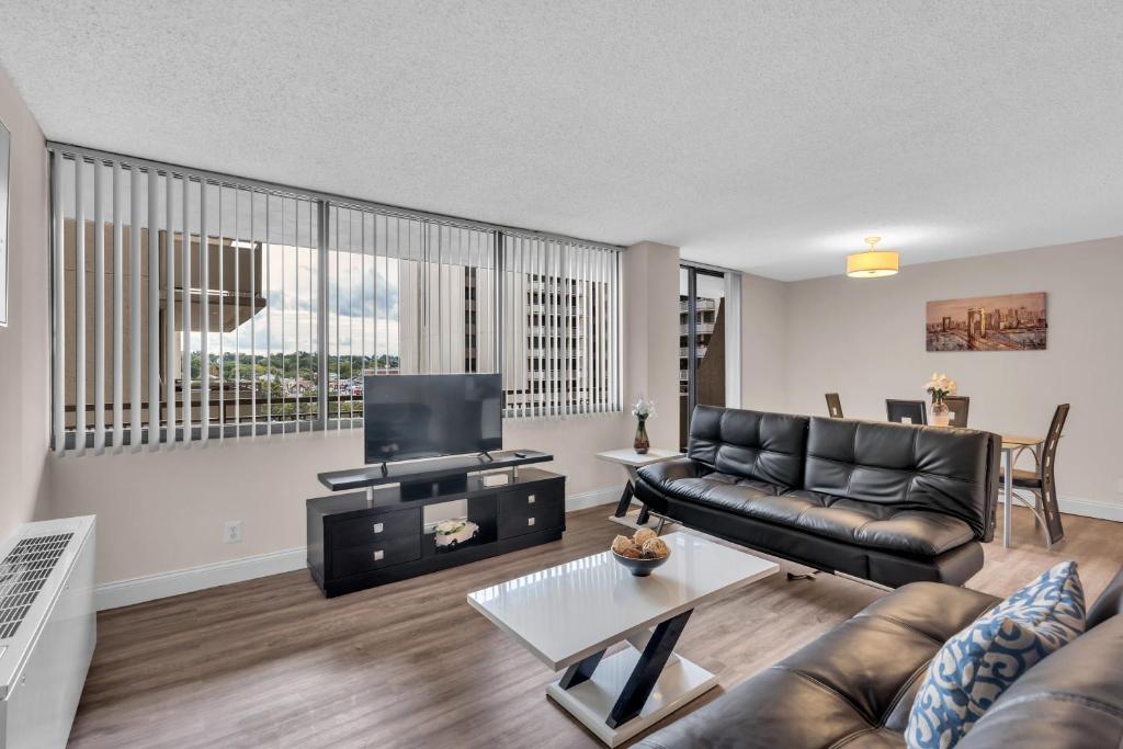
[[[960,585],[994,538],[997,435],[699,405],[636,496],[690,528],[889,587]]]

